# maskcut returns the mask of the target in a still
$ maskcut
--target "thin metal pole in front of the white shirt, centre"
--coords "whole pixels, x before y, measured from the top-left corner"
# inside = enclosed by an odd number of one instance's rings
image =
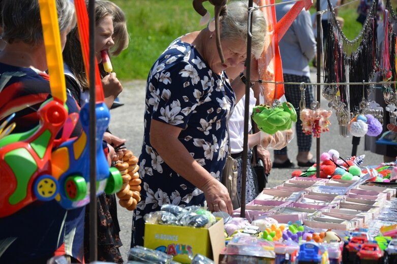
[[[253,6],[253,0],[248,1],[248,7]],[[252,15],[252,13],[249,13]],[[252,28],[252,19],[250,19],[251,24],[248,25],[248,30]],[[244,140],[242,149],[242,164],[241,164],[241,209],[240,217],[246,217],[246,187],[247,187],[247,160],[248,160],[248,121],[250,120],[249,109],[250,109],[250,86],[251,86],[251,36],[247,34],[247,60],[246,60],[246,102],[244,106]],[[229,143],[230,144],[230,143]]]

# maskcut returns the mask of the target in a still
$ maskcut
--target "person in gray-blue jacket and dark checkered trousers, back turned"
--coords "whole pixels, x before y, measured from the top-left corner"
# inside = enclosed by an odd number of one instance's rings
[[[286,0],[284,0],[285,2]],[[293,6],[293,3],[276,6],[276,17],[280,20]],[[309,11],[301,11],[288,28],[285,36],[279,42],[280,54],[283,61],[284,82],[310,83],[309,61],[316,53],[316,40],[312,30]],[[295,108],[299,106],[299,85],[285,84],[285,97]],[[306,86],[306,107],[314,101],[313,87]],[[296,111],[299,117],[299,109]],[[312,136],[302,132],[301,121],[296,122],[296,138],[298,155],[296,160],[300,167],[310,167],[315,163],[310,153]],[[273,168],[292,168],[295,164],[288,158],[287,148],[274,150]]]

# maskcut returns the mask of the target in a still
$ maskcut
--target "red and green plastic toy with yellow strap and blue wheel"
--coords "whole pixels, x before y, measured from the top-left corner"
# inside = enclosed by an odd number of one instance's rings
[[[66,88],[55,3],[40,0],[40,15],[53,98],[38,110],[40,124],[0,140],[0,217],[38,200],[54,199],[59,191],[51,171],[55,136],[67,120]]]

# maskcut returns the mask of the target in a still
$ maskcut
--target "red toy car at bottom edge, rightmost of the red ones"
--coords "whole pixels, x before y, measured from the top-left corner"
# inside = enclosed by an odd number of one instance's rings
[[[388,258],[387,254],[385,254],[384,251],[379,248],[378,244],[365,243],[362,244],[362,246],[360,247],[360,250],[358,251],[357,257],[355,259],[355,263],[387,264]]]

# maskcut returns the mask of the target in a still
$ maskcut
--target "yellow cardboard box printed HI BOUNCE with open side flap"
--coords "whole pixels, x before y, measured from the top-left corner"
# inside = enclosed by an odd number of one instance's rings
[[[218,263],[225,247],[223,219],[209,228],[145,223],[144,246],[173,255],[181,263],[191,263],[190,257],[197,253]]]

